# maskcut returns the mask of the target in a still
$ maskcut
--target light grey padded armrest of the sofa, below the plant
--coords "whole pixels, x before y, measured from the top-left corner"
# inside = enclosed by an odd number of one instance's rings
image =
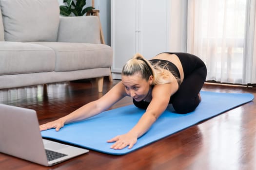
[[[57,41],[100,44],[99,27],[96,16],[60,17]]]

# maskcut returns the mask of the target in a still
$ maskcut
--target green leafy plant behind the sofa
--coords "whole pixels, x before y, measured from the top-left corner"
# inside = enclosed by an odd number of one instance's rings
[[[60,15],[66,17],[71,16],[72,13],[75,16],[83,16],[88,11],[94,9],[92,6],[84,8],[86,0],[63,0],[63,3],[65,3],[65,5],[59,6]]]

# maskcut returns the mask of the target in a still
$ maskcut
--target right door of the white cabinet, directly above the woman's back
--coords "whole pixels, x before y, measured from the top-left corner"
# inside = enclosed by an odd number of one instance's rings
[[[168,47],[168,0],[139,0],[139,52],[147,59]]]

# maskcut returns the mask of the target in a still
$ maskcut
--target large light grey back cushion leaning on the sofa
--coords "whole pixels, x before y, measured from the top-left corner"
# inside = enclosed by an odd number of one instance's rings
[[[56,41],[58,0],[0,0],[5,41]]]

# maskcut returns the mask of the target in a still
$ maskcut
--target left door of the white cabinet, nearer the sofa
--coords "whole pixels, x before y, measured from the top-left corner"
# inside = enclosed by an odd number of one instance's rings
[[[114,50],[112,72],[136,53],[137,0],[111,0],[111,46]],[[115,76],[113,75],[115,79]]]

